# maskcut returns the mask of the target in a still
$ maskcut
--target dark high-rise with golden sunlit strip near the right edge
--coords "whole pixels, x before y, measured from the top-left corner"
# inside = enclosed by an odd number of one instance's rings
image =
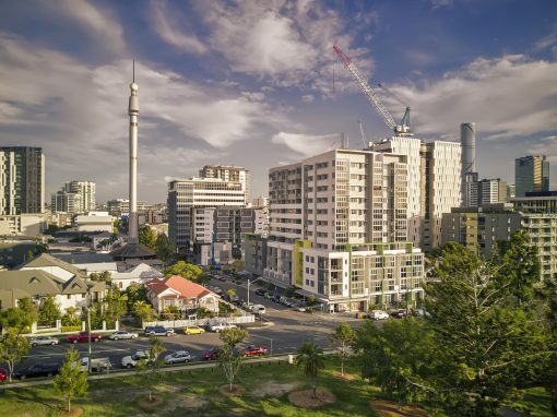
[[[549,190],[549,162],[545,155],[523,156],[514,160],[515,195],[524,196],[526,192]]]

